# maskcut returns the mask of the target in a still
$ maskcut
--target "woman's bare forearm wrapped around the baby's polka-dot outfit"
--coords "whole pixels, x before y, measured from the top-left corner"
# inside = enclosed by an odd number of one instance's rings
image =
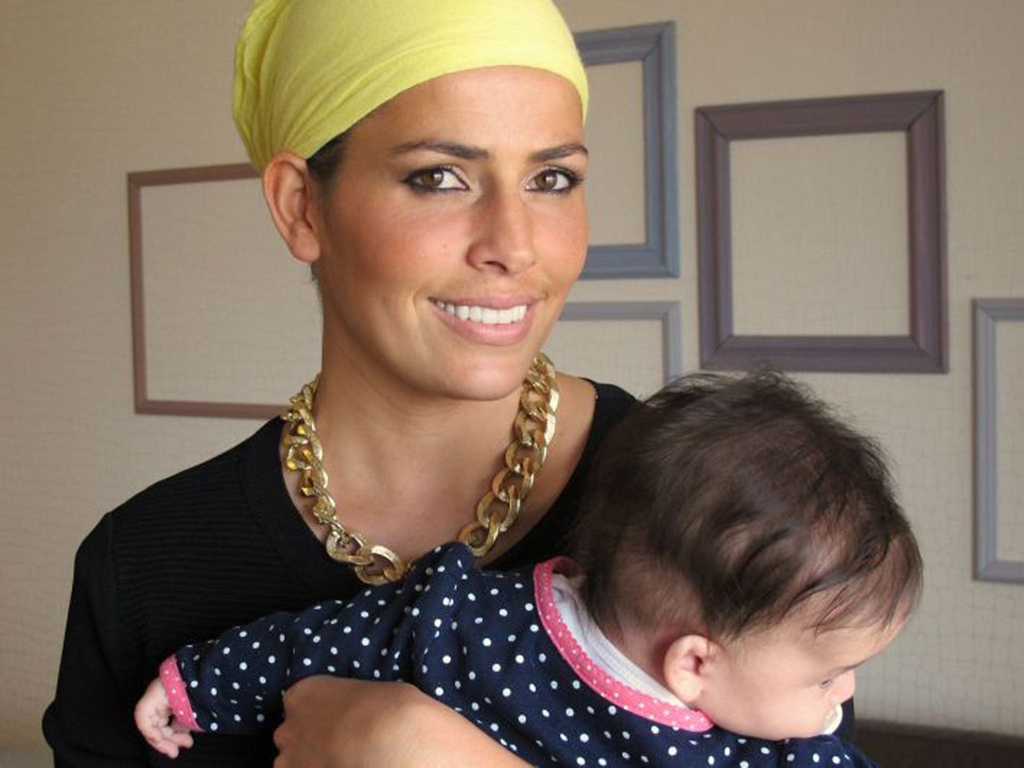
[[[528,765],[408,683],[310,677],[285,694],[274,768]]]

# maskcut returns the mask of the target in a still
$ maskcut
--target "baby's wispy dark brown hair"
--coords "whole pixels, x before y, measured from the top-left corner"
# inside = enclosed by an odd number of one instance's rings
[[[602,626],[718,641],[798,610],[815,632],[902,621],[922,561],[891,485],[879,446],[785,376],[683,377],[590,472],[584,600]]]

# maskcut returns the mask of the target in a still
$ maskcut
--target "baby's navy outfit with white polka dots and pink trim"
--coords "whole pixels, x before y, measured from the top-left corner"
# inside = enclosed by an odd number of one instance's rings
[[[873,765],[836,736],[745,738],[602,680],[553,631],[545,590],[557,567],[480,571],[463,545],[445,545],[399,584],[185,646],[161,675],[176,717],[217,733],[276,724],[283,690],[332,674],[411,682],[535,765]]]

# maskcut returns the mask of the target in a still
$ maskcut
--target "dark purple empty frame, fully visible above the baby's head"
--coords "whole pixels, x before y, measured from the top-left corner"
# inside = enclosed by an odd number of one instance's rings
[[[942,91],[702,106],[695,111],[700,364],[742,370],[947,370]],[[900,131],[907,142],[909,334],[733,332],[729,151],[733,141]]]

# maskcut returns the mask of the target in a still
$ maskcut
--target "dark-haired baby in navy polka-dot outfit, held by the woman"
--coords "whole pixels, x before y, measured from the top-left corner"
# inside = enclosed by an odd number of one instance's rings
[[[136,724],[175,757],[331,674],[411,682],[535,764],[871,765],[827,734],[921,557],[873,443],[801,387],[695,375],[635,407],[571,551],[500,573],[446,545],[400,584],[185,646]]]

